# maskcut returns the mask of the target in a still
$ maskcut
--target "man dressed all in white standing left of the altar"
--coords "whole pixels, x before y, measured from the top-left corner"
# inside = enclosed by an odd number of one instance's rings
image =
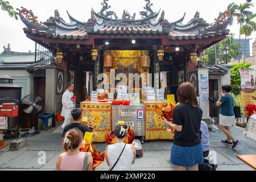
[[[74,93],[74,84],[72,82],[68,82],[68,89],[64,92],[62,96],[62,110],[61,110],[61,116],[64,117],[64,123],[62,127],[64,128],[69,123],[73,122],[73,118],[71,115],[71,111],[75,109],[75,101],[71,100],[71,97],[73,97]]]

